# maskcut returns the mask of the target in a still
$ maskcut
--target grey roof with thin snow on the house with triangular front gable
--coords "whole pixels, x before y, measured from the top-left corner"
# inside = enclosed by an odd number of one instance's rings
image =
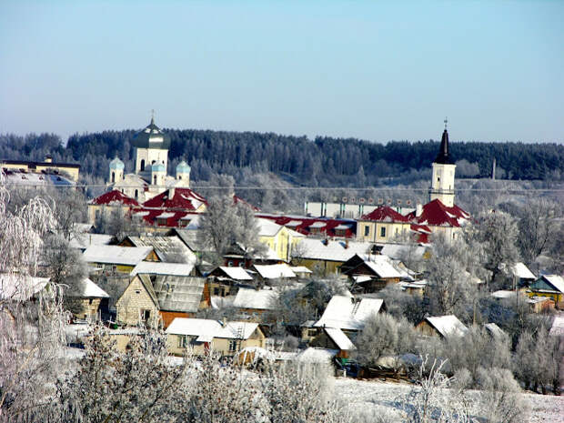
[[[196,313],[206,278],[159,275],[154,279],[153,288],[160,310]]]

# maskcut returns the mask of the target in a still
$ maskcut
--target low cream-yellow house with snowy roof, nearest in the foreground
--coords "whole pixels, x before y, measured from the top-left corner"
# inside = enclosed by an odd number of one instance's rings
[[[265,334],[257,323],[250,322],[176,317],[166,328],[166,336],[168,352],[177,356],[184,355],[187,348],[197,355],[213,350],[234,356],[243,348],[266,345]]]

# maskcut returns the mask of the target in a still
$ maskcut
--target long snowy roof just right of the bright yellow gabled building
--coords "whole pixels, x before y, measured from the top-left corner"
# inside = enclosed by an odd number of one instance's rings
[[[296,257],[346,262],[355,254],[368,254],[372,244],[369,242],[333,241],[305,237],[301,239],[299,246],[299,249],[294,251]]]

